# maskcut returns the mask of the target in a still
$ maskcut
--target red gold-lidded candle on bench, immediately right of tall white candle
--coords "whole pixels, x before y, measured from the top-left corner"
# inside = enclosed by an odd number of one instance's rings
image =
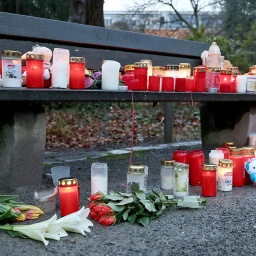
[[[71,57],[69,64],[69,88],[84,89],[85,81],[85,58]]]

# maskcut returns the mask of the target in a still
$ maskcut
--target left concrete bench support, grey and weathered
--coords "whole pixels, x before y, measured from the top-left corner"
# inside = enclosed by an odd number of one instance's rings
[[[46,138],[42,105],[5,102],[0,113],[0,187],[41,184]]]

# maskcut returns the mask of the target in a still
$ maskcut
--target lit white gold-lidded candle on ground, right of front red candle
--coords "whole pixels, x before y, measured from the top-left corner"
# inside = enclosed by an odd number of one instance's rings
[[[221,159],[218,164],[218,190],[232,190],[233,162],[229,159]]]

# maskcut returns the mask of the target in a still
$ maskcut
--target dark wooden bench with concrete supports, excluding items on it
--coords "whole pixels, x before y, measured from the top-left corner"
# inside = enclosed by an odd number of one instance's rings
[[[18,50],[25,53],[35,44],[51,50],[65,48],[69,49],[70,56],[85,57],[88,69],[100,69],[102,61],[106,59],[116,60],[122,66],[141,59],[150,59],[153,65],[187,62],[193,68],[201,64],[201,53],[209,49],[208,44],[199,42],[3,12],[0,12],[0,24],[1,50]],[[213,104],[214,109],[216,102],[226,105],[229,101],[236,105],[237,102],[253,103],[255,100],[253,94],[2,87],[0,88],[1,188],[12,189],[41,183],[46,136],[44,103],[131,102],[132,94],[135,102],[164,102],[166,143],[172,142],[172,102],[209,102]],[[249,104],[248,108],[250,107]],[[208,122],[209,118],[205,117],[207,108],[211,106],[204,106],[201,112],[202,119],[206,120],[202,121],[202,127],[207,131],[205,134],[202,132],[203,145],[207,145],[204,141],[207,142],[207,136],[215,129],[214,125]],[[248,113],[248,108],[243,110]],[[210,129],[207,130],[209,127]]]

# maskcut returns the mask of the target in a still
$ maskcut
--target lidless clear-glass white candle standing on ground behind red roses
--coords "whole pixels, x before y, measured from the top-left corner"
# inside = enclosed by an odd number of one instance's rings
[[[108,166],[106,163],[93,163],[91,166],[91,194],[108,193]]]

